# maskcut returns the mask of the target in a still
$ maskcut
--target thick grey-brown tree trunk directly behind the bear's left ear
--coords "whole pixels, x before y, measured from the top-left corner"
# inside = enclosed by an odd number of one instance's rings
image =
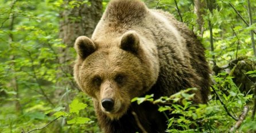
[[[69,2],[71,0],[66,0]],[[82,2],[82,0],[79,0]],[[63,43],[66,48],[59,49],[61,56],[60,64],[67,64],[65,67],[61,67],[62,73],[60,77],[69,76],[69,85],[71,88],[77,88],[75,82],[72,80],[73,65],[75,60],[71,48],[77,37],[88,36],[91,37],[92,32],[95,29],[96,24],[102,15],[102,0],[89,0],[87,3],[83,3],[79,7],[64,10],[60,13],[60,34],[59,37],[63,39]],[[62,85],[67,85],[66,81],[61,81]],[[61,86],[62,86],[61,85]]]

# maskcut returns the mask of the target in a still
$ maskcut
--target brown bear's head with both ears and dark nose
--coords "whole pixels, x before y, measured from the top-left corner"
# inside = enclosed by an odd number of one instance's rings
[[[156,83],[159,65],[154,58],[157,53],[152,54],[156,50],[144,48],[147,44],[134,31],[115,38],[112,44],[108,42],[78,37],[74,76],[82,91],[98,105],[96,109],[118,119],[129,109],[131,99],[142,96]]]

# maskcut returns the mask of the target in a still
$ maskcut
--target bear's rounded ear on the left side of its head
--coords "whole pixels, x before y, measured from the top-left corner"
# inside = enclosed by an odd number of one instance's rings
[[[94,42],[86,36],[77,37],[74,47],[76,49],[76,53],[83,59],[96,50]]]

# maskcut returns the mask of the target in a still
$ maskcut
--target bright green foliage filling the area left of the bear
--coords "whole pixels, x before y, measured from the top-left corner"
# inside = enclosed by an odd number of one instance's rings
[[[90,2],[64,2],[0,1],[0,132],[29,131],[58,117],[42,132],[99,132],[91,99],[61,86],[73,77],[63,69],[72,62],[60,63],[67,46],[58,38],[59,13]],[[69,112],[74,96],[83,103],[73,101]]]

